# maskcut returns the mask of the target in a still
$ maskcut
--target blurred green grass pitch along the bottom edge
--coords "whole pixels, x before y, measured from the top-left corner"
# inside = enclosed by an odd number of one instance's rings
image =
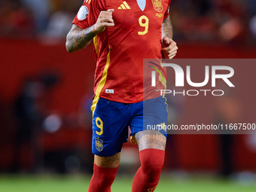
[[[86,192],[90,176],[0,175],[1,192]],[[133,176],[117,175],[112,192],[130,192]],[[238,184],[210,178],[178,180],[162,175],[155,192],[255,192],[256,183]]]

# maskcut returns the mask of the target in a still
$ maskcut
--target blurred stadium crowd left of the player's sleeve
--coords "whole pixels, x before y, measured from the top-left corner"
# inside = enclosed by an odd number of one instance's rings
[[[1,0],[0,35],[66,37],[83,0]]]

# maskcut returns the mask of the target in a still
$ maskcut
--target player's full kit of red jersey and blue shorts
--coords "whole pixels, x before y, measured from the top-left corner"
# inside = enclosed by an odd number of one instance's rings
[[[132,136],[146,130],[147,125],[167,123],[166,99],[151,86],[145,90],[143,59],[162,57],[162,23],[169,16],[169,3],[85,0],[78,11],[73,23],[85,29],[96,23],[101,11],[114,9],[114,26],[93,38],[93,154],[108,157],[120,152],[129,126]],[[163,82],[157,81],[157,89],[165,89]],[[160,132],[166,136],[166,130]]]

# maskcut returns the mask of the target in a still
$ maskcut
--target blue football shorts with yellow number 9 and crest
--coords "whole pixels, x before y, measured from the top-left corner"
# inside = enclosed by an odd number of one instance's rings
[[[95,96],[93,111],[92,151],[100,157],[117,154],[131,134],[142,130],[158,130],[167,136],[160,125],[167,123],[167,104],[163,96],[136,103],[113,102]]]

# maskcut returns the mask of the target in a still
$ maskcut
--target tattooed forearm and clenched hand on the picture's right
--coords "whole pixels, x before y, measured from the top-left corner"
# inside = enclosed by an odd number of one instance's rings
[[[172,40],[172,23],[171,19],[168,16],[162,23],[162,44],[163,44],[163,53],[166,59],[172,59],[178,50],[176,42]]]

